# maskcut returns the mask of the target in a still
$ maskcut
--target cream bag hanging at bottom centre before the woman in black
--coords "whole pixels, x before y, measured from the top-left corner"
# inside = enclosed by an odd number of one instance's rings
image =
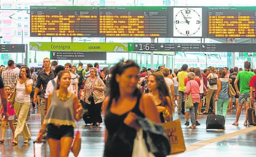
[[[139,129],[139,131],[137,131],[136,137],[134,139],[132,157],[155,157],[155,155],[149,152],[146,147],[142,129]]]

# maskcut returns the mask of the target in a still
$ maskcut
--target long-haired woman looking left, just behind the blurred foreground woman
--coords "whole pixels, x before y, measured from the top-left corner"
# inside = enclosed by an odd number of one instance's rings
[[[171,121],[174,106],[171,102],[164,75],[161,72],[149,75],[148,86],[150,91],[149,95],[153,97],[161,122]]]

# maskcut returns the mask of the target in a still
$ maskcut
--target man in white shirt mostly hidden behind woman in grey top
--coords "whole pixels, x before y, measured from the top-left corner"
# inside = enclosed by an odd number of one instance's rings
[[[55,68],[55,72],[58,74],[60,71],[63,71],[65,70],[64,66],[62,65],[58,65],[56,68]],[[46,102],[48,102],[48,96],[51,92],[54,91],[55,89],[55,86],[57,84],[57,79],[58,79],[58,76],[56,76],[53,80],[50,80],[46,86],[46,93],[44,95],[45,99],[46,99]],[[74,93],[73,92],[73,86],[72,84],[69,85],[68,87],[68,91],[70,91],[71,93]]]

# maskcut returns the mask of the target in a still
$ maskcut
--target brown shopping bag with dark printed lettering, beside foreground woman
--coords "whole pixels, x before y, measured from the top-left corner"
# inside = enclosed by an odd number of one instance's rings
[[[167,135],[171,145],[171,154],[184,152],[186,150],[186,146],[181,129],[181,120],[177,119],[169,121],[167,123],[162,123],[162,125],[165,128],[165,134]]]

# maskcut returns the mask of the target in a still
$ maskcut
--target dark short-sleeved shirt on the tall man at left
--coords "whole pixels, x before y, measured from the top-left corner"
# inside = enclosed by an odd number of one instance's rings
[[[41,84],[43,85],[43,89],[41,91],[41,95],[40,97],[43,97],[44,98],[44,94],[46,93],[46,86],[48,84],[48,82],[52,79],[54,79],[56,76],[55,76],[55,73],[53,72],[53,70],[51,69],[49,75],[46,74],[45,70],[43,71],[40,71],[38,74],[37,74],[37,88],[40,88],[41,87]]]

